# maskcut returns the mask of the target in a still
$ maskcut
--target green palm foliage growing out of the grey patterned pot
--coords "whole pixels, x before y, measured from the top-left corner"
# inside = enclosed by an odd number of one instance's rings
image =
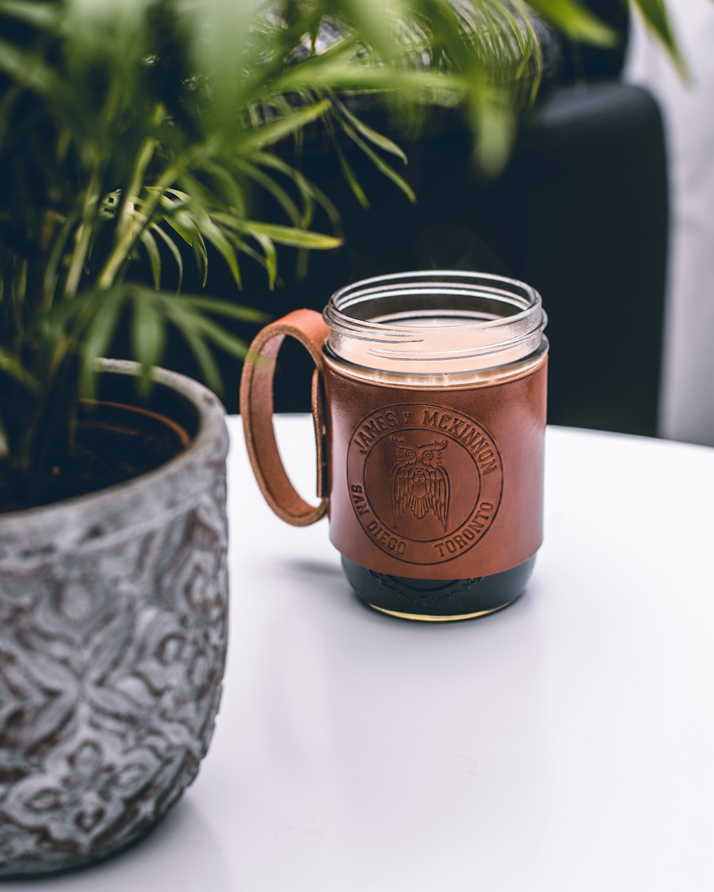
[[[684,68],[662,0],[634,2]],[[27,464],[38,419],[93,392],[122,323],[144,387],[173,328],[219,388],[213,351],[245,351],[220,319],[256,317],[181,296],[187,255],[203,285],[217,255],[238,289],[245,258],[273,286],[284,246],[304,268],[341,244],[286,141],[331,136],[365,207],[348,145],[414,199],[402,148],[355,94],[404,127],[460,109],[498,172],[543,68],[534,12],[613,38],[582,0],[0,0],[0,377],[23,394],[9,412],[0,390],[0,452]],[[141,257],[154,288],[130,281]]]

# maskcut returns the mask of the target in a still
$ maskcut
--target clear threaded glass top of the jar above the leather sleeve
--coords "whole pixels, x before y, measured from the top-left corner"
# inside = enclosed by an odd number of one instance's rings
[[[547,323],[531,285],[462,270],[363,279],[334,293],[323,316],[337,358],[411,374],[510,364],[538,350]]]

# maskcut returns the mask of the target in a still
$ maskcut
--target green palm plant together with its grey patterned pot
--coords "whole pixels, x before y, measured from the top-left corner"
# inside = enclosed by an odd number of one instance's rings
[[[609,37],[559,10],[572,36]],[[519,3],[472,13],[465,29],[444,0],[0,0],[0,875],[127,845],[211,739],[228,437],[210,390],[156,367],[172,331],[218,391],[214,349],[245,350],[220,319],[261,316],[182,293],[187,255],[239,286],[245,258],[274,283],[278,245],[339,244],[328,198],[276,151],[318,122],[409,193],[345,91],[460,102],[497,169],[538,41]],[[256,192],[282,222],[253,216]],[[117,333],[135,361],[102,359]]]

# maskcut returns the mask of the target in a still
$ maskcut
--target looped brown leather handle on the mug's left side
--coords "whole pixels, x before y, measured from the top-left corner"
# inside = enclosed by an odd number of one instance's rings
[[[322,344],[329,333],[320,313],[293,310],[266,326],[255,337],[245,359],[240,384],[240,412],[245,443],[253,473],[270,508],[282,520],[294,526],[308,526],[325,515],[328,500],[324,493],[324,416],[320,376],[323,371]],[[299,341],[315,363],[311,402],[318,455],[318,497],[320,504],[310,505],[295,491],[283,467],[273,429],[273,376],[278,351],[286,337]]]

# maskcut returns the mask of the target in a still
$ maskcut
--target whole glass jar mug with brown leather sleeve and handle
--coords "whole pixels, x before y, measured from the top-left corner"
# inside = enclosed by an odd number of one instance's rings
[[[413,272],[349,285],[322,316],[295,310],[253,341],[241,414],[263,495],[290,524],[328,514],[370,607],[460,620],[524,591],[543,540],[546,321],[523,282]],[[317,506],[290,483],[273,433],[286,336],[316,366]]]

